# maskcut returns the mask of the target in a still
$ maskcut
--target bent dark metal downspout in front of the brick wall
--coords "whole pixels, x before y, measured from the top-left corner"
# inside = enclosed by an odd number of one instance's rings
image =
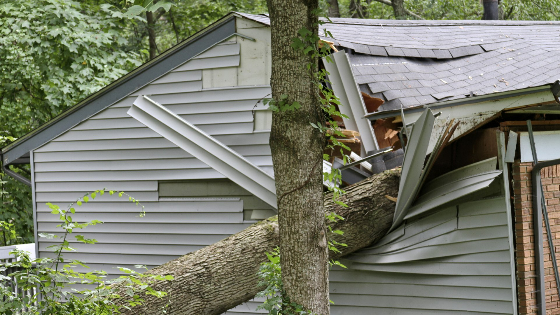
[[[531,121],[527,121],[529,131],[529,142],[531,144],[531,153],[533,154],[533,170],[531,171],[531,184],[533,186],[533,230],[535,239],[535,278],[536,278],[536,306],[539,315],[543,315],[546,309],[545,286],[544,286],[544,253],[543,253],[543,216],[544,224],[547,229],[548,247],[550,249],[550,257],[552,258],[552,267],[554,269],[554,278],[556,279],[556,289],[560,297],[560,276],[558,275],[558,263],[556,261],[556,251],[550,232],[550,224],[548,222],[548,211],[546,200],[544,198],[543,183],[540,180],[540,170],[545,167],[560,164],[560,159],[539,162],[536,156],[535,139],[533,137],[533,127]],[[538,184],[537,184],[538,183]],[[541,215],[542,212],[542,215]],[[538,237],[540,235],[540,237]]]

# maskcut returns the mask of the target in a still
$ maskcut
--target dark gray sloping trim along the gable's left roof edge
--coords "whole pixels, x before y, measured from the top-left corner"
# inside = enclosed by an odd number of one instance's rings
[[[236,32],[236,15],[230,13],[213,25],[183,42],[166,50],[158,57],[142,64],[127,75],[88,96],[80,103],[68,108],[57,117],[35,128],[15,142],[3,147],[3,164],[8,165],[31,150],[44,145],[76,124],[98,113],[100,110],[125,98],[133,91],[178,67],[180,64],[220,43]]]

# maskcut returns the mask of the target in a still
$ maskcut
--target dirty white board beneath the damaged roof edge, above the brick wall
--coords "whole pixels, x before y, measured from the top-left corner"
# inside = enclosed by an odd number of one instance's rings
[[[456,138],[464,135],[486,123],[492,119],[494,115],[499,114],[502,110],[510,108],[517,108],[521,106],[530,106],[534,104],[549,103],[555,101],[555,97],[551,91],[538,91],[526,95],[518,95],[510,98],[503,98],[491,101],[482,101],[480,103],[462,104],[455,106],[442,106],[438,103],[427,105],[424,107],[430,108],[434,113],[441,112],[441,115],[436,118],[434,128],[441,129],[447,118],[460,121],[459,126],[450,138],[450,142]],[[422,112],[407,113],[404,112],[404,120],[407,123],[415,122],[420,117]],[[428,146],[427,154],[432,152],[433,147],[437,142],[438,135],[434,133],[430,139],[430,146]],[[531,159],[532,160],[532,159]]]

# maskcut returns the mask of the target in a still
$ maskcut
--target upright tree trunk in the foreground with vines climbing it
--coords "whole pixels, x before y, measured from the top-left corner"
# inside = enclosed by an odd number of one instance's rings
[[[318,34],[318,0],[267,0],[272,39],[272,97],[301,108],[273,113],[270,150],[276,180],[282,284],[290,302],[329,315],[328,247],[323,212],[325,138],[319,93],[307,70],[318,59],[291,47],[298,30]],[[305,43],[306,45],[317,43]]]

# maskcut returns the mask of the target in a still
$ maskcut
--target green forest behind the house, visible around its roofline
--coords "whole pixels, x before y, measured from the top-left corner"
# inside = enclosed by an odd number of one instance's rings
[[[157,1],[157,0],[156,0]],[[267,13],[265,0],[176,0],[129,19],[133,1],[0,3],[0,147],[156,57],[230,11]],[[327,0],[330,17],[480,20],[478,0]],[[500,20],[558,20],[560,1],[501,0]],[[395,14],[396,13],[396,14]],[[0,162],[1,163],[1,162]],[[29,165],[9,166],[30,177]],[[31,189],[0,172],[0,221],[34,242]],[[0,246],[15,243],[0,229]]]

